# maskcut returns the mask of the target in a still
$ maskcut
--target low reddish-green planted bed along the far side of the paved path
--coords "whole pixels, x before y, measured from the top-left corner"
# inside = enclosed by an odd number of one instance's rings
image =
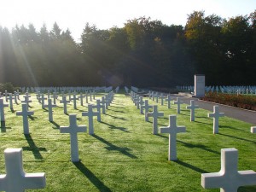
[[[246,108],[256,111],[256,96],[230,95],[216,92],[209,92],[202,97],[208,102],[218,102],[225,105],[234,106],[237,108]]]

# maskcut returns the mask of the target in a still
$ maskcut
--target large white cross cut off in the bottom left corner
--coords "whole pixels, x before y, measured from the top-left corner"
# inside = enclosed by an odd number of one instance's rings
[[[22,165],[22,148],[4,150],[5,175],[0,175],[0,190],[7,192],[25,189],[43,189],[46,185],[45,173],[26,173]]]

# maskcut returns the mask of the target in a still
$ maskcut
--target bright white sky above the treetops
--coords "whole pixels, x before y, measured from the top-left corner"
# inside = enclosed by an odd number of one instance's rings
[[[146,16],[167,26],[185,26],[188,15],[195,10],[229,19],[249,15],[255,9],[256,0],[1,0],[0,26],[11,30],[15,25],[32,23],[39,31],[45,23],[50,31],[56,22],[79,41],[86,22],[109,29]]]

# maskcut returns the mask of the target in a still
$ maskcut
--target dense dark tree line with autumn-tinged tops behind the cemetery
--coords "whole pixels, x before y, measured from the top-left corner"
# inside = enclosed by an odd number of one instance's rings
[[[185,26],[141,17],[124,27],[86,23],[81,42],[55,24],[0,26],[0,82],[17,86],[256,84],[256,10],[229,20],[194,11]]]

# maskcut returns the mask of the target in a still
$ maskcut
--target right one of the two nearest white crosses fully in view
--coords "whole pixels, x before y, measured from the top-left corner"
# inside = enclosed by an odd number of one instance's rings
[[[168,160],[177,160],[176,137],[177,133],[185,132],[185,126],[177,126],[177,116],[169,115],[169,126],[160,127],[160,133],[169,133]]]

